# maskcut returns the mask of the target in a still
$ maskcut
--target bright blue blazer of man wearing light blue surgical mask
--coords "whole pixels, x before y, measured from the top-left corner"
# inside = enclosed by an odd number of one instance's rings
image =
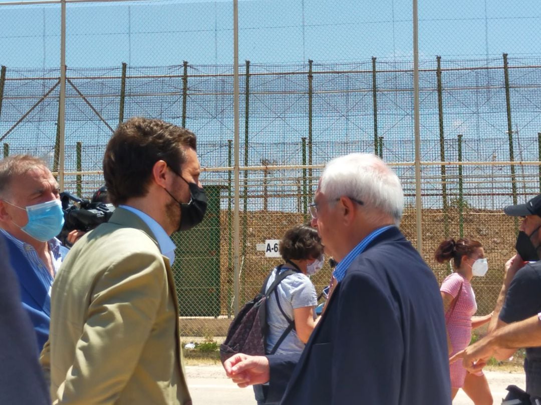
[[[17,245],[0,233],[2,240],[9,252],[11,268],[14,269],[21,288],[21,300],[23,308],[30,316],[37,337],[39,351],[49,338],[49,324],[51,322],[51,297],[48,289],[39,280],[36,271],[28,260],[23,256]],[[67,253],[68,249],[65,249]],[[38,355],[39,355],[38,351]]]

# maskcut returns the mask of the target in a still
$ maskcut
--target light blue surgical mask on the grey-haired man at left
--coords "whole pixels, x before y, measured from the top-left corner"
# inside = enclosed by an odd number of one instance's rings
[[[34,239],[47,242],[60,234],[64,226],[64,211],[60,200],[51,200],[41,204],[19,207],[9,201],[6,203],[27,211],[28,223],[21,230]],[[15,222],[14,222],[15,224]],[[17,227],[19,225],[15,224]]]

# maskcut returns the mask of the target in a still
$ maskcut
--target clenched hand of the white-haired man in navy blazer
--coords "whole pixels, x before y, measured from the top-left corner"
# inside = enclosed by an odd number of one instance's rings
[[[263,384],[270,379],[271,369],[265,356],[248,356],[239,353],[229,357],[223,363],[223,368],[226,370],[226,375],[241,388]]]

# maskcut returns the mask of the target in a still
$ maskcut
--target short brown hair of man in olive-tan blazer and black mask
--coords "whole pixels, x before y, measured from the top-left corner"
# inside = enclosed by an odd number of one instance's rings
[[[109,200],[118,205],[145,196],[157,161],[180,175],[186,162],[182,147],[196,149],[194,133],[161,119],[134,117],[119,124],[103,157]]]

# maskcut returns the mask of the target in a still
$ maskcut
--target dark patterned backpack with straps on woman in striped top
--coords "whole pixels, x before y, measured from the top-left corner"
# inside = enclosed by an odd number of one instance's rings
[[[269,296],[274,291],[276,302],[278,303],[278,308],[282,315],[286,318],[289,325],[286,330],[283,331],[278,342],[274,345],[271,350],[271,353],[276,353],[276,350],[286,338],[286,336],[291,332],[295,327],[295,322],[284,313],[282,307],[280,306],[280,300],[278,299],[278,291],[276,287],[281,281],[287,276],[298,273],[295,270],[285,270],[280,273],[282,265],[280,264],[276,269],[276,278],[271,284],[271,287],[265,292],[269,278],[271,277],[273,271],[265,278],[265,282],[261,287],[261,291],[252,301],[248,301],[245,306],[239,311],[235,316],[233,322],[229,325],[227,331],[226,340],[220,345],[220,359],[225,362],[229,357],[237,354],[244,353],[248,355],[259,355],[264,356],[265,354],[265,340],[268,334],[268,324],[267,324],[267,300]]]

